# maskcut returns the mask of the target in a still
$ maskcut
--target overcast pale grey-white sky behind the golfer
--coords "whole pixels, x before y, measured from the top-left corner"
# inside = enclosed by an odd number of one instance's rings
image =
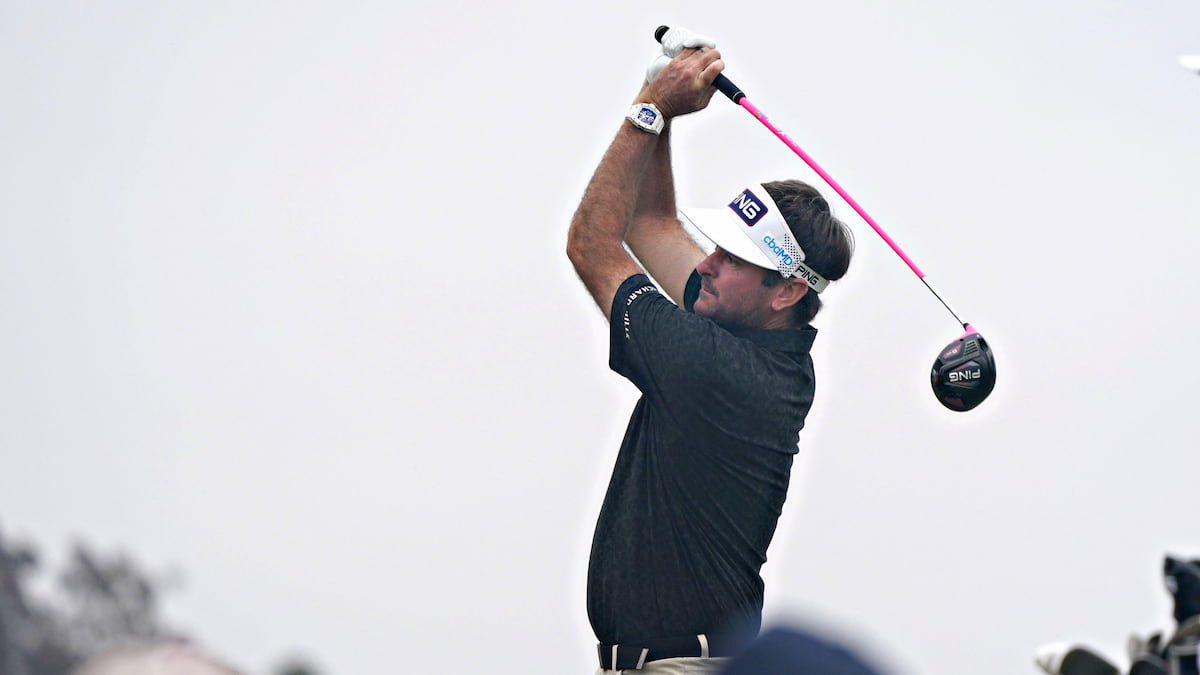
[[[636,400],[563,255],[661,23],[848,208],[764,567],[898,674],[1169,627],[1200,556],[1200,4],[0,1],[0,527],[178,567],[250,673],[592,673],[592,527]],[[808,178],[724,98],[680,202]],[[402,665],[397,665],[401,663]]]

